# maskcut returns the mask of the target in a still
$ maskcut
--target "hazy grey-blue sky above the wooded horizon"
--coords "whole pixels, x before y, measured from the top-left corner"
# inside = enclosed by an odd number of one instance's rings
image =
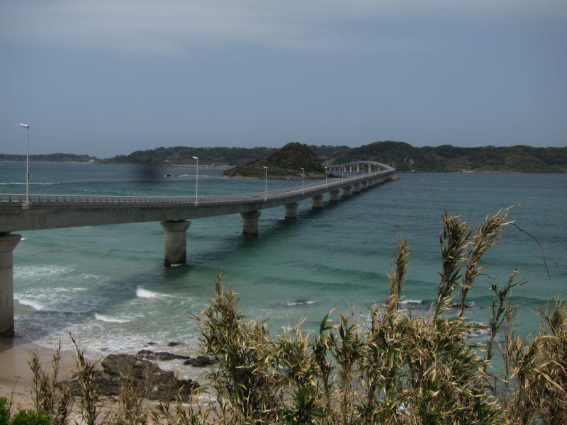
[[[565,0],[1,0],[0,153],[567,146]]]

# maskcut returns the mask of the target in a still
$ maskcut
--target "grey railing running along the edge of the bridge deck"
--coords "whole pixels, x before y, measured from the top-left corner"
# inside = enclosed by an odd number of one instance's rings
[[[81,204],[223,204],[223,203],[244,203],[262,200],[274,200],[279,198],[286,198],[292,195],[305,195],[310,193],[320,192],[321,189],[332,190],[348,185],[349,183],[356,183],[357,181],[364,181],[371,177],[387,176],[392,174],[393,169],[383,171],[376,171],[370,174],[356,175],[344,177],[342,179],[328,179],[326,181],[317,181],[315,183],[308,183],[303,186],[293,186],[292,188],[279,189],[277,191],[257,192],[257,193],[242,193],[237,195],[219,195],[219,196],[200,196],[196,199],[195,196],[86,196],[86,195],[30,195],[29,200],[31,203],[81,203]],[[198,202],[197,202],[198,201]],[[16,193],[0,193],[0,203],[25,203],[26,195]]]

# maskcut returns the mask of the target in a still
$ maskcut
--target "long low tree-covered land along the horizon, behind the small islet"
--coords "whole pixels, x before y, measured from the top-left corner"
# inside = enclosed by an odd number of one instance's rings
[[[345,164],[351,161],[366,160],[394,164],[398,171],[567,172],[567,147],[456,147],[451,145],[412,147],[408,143],[391,140],[374,142],[361,147],[330,145],[308,145],[307,147],[315,153],[318,162],[322,164]],[[267,161],[278,150],[271,147],[176,146],[139,150],[128,155],[118,155],[107,159],[73,154],[30,155],[30,161],[191,165],[196,164],[193,157],[198,157],[199,164],[203,165],[235,166],[256,160]],[[0,161],[25,160],[25,155],[0,154]],[[279,166],[279,164],[271,165],[274,168]],[[248,168],[251,175],[256,172],[254,166]],[[285,169],[286,167],[280,168]],[[307,169],[305,166],[304,168]]]

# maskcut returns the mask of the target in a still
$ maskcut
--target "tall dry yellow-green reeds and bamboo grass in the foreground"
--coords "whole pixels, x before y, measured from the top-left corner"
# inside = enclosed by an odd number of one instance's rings
[[[200,314],[201,350],[217,362],[189,399],[142,404],[143,380],[121,374],[118,405],[101,414],[94,365],[79,353],[76,401],[53,373],[30,361],[34,371],[38,425],[69,423],[72,402],[82,423],[156,425],[474,425],[567,423],[567,306],[552,300],[539,311],[539,334],[522,339],[514,331],[512,289],[527,280],[517,270],[503,284],[493,283],[487,324],[466,319],[466,297],[484,273],[483,254],[512,224],[510,208],[471,227],[460,217],[442,215],[441,270],[432,285],[430,311],[403,307],[408,241],[398,240],[389,294],[364,315],[330,312],[315,334],[303,320],[272,336],[266,322],[238,310],[238,298],[215,278],[215,295]],[[471,339],[479,329],[483,339]],[[495,369],[501,356],[502,370]],[[2,425],[19,425],[0,399]],[[50,421],[45,422],[47,416]]]

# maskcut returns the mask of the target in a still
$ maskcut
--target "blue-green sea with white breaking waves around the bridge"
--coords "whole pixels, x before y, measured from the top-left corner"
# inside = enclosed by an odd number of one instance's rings
[[[25,162],[0,162],[0,193],[25,193]],[[194,166],[30,163],[30,194],[194,196]],[[215,275],[240,297],[239,309],[267,321],[271,334],[294,327],[315,332],[333,311],[364,324],[369,308],[388,296],[387,273],[399,238],[411,251],[402,307],[427,314],[442,269],[439,234],[445,209],[470,225],[515,205],[502,239],[485,256],[466,317],[488,322],[493,293],[510,273],[528,283],[512,290],[515,329],[539,330],[538,312],[567,298],[567,175],[398,173],[400,179],[341,198],[322,210],[304,200],[297,220],[284,208],[262,210],[259,236],[242,235],[242,217],[191,220],[187,263],[165,267],[159,222],[17,232],[13,252],[18,337],[72,348],[72,334],[91,358],[109,353],[200,352],[198,322]],[[198,168],[199,196],[257,193],[264,179],[223,176]],[[301,186],[268,179],[267,190]],[[458,295],[458,294],[457,294]],[[473,338],[482,339],[482,332]],[[180,344],[172,348],[171,343]]]

